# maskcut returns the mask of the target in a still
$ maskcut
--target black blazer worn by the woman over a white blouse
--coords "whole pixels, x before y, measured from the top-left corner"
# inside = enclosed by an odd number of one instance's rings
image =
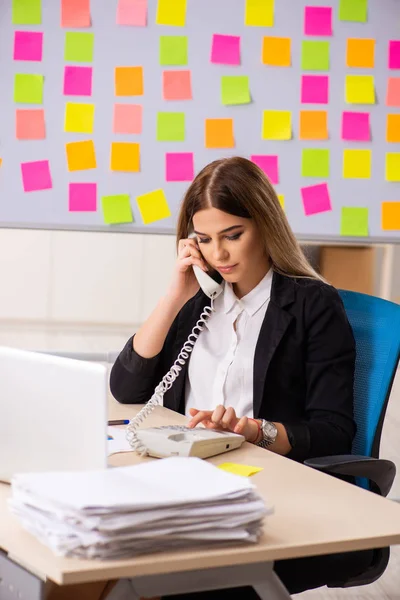
[[[113,365],[110,388],[125,404],[145,403],[169,371],[210,300],[199,292],[177,315],[161,352],[137,354],[130,338]],[[164,396],[164,406],[184,413],[187,364]],[[313,279],[274,273],[271,298],[254,357],[254,417],[283,423],[289,458],[351,451],[355,342],[335,288]],[[204,373],[207,377],[207,373]]]

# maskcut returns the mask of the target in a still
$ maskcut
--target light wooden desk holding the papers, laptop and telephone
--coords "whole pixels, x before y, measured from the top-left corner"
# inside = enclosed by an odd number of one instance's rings
[[[111,418],[130,418],[138,408],[110,400],[109,414]],[[184,417],[160,407],[146,425],[182,422],[186,422]],[[110,458],[113,465],[128,465],[139,460],[153,459],[140,459],[133,453]],[[239,450],[211,459],[216,465],[226,461],[263,467],[252,481],[268,503],[275,506],[275,514],[267,517],[263,537],[256,545],[207,552],[163,552],[117,561],[57,558],[24,531],[9,513],[6,506],[9,487],[1,485],[0,548],[42,579],[69,584],[133,577],[137,578],[140,593],[150,596],[168,593],[172,589],[169,587],[171,577],[175,591],[169,593],[179,593],[177,584],[185,591],[188,576],[193,581],[194,572],[197,578],[199,573],[207,573],[204,585],[208,585],[208,589],[213,585],[213,573],[225,573],[224,580],[230,581],[231,586],[257,580],[265,583],[266,575],[273,577],[272,564],[277,559],[400,543],[400,505],[397,503],[247,443]],[[226,578],[227,573],[233,581]],[[278,588],[268,588],[269,598],[288,597]],[[260,593],[260,588],[257,589]]]

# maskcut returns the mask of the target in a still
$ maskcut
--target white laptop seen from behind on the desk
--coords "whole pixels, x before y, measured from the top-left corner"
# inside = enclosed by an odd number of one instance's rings
[[[0,481],[107,466],[107,369],[0,347]]]

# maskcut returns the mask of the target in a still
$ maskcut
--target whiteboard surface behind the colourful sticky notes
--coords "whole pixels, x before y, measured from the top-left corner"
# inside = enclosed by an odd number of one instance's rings
[[[386,106],[389,77],[400,77],[400,70],[388,68],[389,40],[399,40],[400,2],[398,0],[369,0],[366,23],[340,21],[339,0],[276,0],[273,27],[250,27],[244,24],[245,0],[188,0],[184,27],[156,24],[157,0],[148,0],[147,26],[117,25],[117,0],[91,0],[91,27],[76,31],[94,33],[94,56],[91,63],[79,66],[93,68],[92,95],[63,95],[64,68],[74,63],[64,60],[65,35],[70,29],[61,27],[61,0],[42,0],[40,25],[12,24],[12,0],[0,3],[0,226],[88,231],[116,231],[166,233],[175,231],[179,204],[189,183],[167,182],[165,155],[192,152],[195,173],[214,159],[241,155],[276,155],[279,165],[278,194],[285,198],[289,222],[302,241],[399,242],[400,230],[383,231],[381,203],[400,201],[400,183],[385,181],[386,152],[400,152],[399,143],[386,141],[386,117],[399,113],[400,107]],[[305,6],[331,6],[333,35],[314,37],[305,35]],[[13,60],[16,31],[43,32],[43,59],[41,62]],[[213,34],[240,36],[240,65],[212,64],[210,62]],[[188,37],[188,64],[182,67],[161,66],[159,60],[160,36]],[[262,64],[264,36],[291,38],[291,66],[273,67]],[[375,64],[372,69],[346,67],[346,40],[373,38],[376,40]],[[304,72],[301,65],[303,40],[328,41],[330,68],[327,72]],[[78,63],[76,63],[78,64]],[[144,93],[142,96],[116,97],[114,69],[116,66],[142,66]],[[188,69],[191,72],[191,100],[164,100],[163,71]],[[44,76],[44,96],[41,105],[14,102],[14,77],[17,73]],[[303,74],[329,76],[328,104],[301,103]],[[373,75],[376,103],[372,105],[345,103],[345,75]],[[221,77],[246,75],[249,77],[251,102],[242,105],[221,103]],[[64,131],[64,113],[67,102],[94,103],[93,134]],[[113,132],[113,105],[115,103],[143,106],[142,133],[116,134]],[[24,108],[43,108],[45,139],[16,139],[15,111]],[[265,110],[288,110],[292,115],[292,139],[265,140],[261,137],[262,115]],[[300,110],[327,110],[329,139],[302,141],[299,139]],[[185,114],[184,141],[157,141],[157,113],[183,112]],[[341,119],[343,111],[370,113],[371,141],[343,141]],[[204,122],[208,118],[232,118],[234,148],[209,149],[205,147]],[[69,172],[65,144],[93,140],[97,168]],[[134,173],[110,170],[112,142],[140,144],[140,171]],[[330,150],[330,174],[327,178],[303,177],[302,150],[324,148]],[[371,177],[344,179],[342,155],[344,149],[372,151]],[[51,189],[29,191],[23,189],[21,163],[49,161]],[[95,183],[97,210],[76,212],[69,210],[69,184]],[[301,188],[327,183],[332,210],[307,216],[302,202]],[[170,216],[144,224],[136,198],[153,190],[162,189]],[[129,194],[134,222],[105,224],[102,212],[103,196]],[[368,209],[368,236],[343,237],[341,213],[343,207]]]

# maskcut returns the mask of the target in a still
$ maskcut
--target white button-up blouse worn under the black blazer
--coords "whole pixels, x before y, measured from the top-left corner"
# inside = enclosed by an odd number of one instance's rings
[[[189,409],[232,406],[237,416],[253,417],[254,353],[269,304],[272,269],[240,300],[231,284],[214,302],[215,312],[199,335],[189,361],[185,414]]]

